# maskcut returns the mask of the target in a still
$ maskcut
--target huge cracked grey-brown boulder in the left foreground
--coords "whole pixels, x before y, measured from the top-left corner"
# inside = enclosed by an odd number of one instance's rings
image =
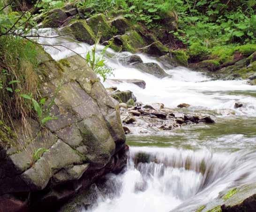
[[[0,205],[5,212],[21,211],[31,192],[37,193],[30,199],[32,211],[52,210],[125,165],[119,161],[126,152],[119,108],[85,60],[72,56],[58,63],[44,51],[39,57],[46,105],[60,87],[50,109],[55,119],[44,127],[29,119],[26,134],[21,120],[13,121],[15,129],[0,122]],[[12,204],[15,208],[8,210]]]

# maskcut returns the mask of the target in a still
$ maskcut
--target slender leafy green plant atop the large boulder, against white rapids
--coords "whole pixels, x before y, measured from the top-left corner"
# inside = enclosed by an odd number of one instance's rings
[[[86,60],[88,64],[90,65],[90,68],[100,77],[103,78],[103,81],[106,80],[107,76],[113,75],[113,70],[109,69],[105,64],[105,52],[109,45],[105,46],[103,50],[101,51],[101,56],[97,56],[97,45],[99,44],[100,36],[99,33],[96,38],[96,42],[94,43],[94,47],[91,49],[91,51],[87,52],[86,54]]]

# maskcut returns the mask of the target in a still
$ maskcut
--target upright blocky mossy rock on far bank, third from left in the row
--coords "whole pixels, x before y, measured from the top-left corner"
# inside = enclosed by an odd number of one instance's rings
[[[107,41],[113,36],[113,28],[107,23],[105,15],[97,14],[86,20],[95,35],[100,33],[101,42]]]

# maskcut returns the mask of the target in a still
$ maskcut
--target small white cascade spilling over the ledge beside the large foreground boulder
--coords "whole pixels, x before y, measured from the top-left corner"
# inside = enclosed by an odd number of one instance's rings
[[[255,158],[255,152],[133,147],[127,170],[108,176],[112,193],[88,211],[169,212],[188,202],[202,205],[228,187],[253,181]]]

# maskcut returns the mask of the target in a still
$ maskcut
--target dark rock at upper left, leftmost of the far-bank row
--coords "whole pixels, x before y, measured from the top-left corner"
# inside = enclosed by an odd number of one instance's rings
[[[61,9],[53,9],[47,13],[42,22],[44,28],[58,28],[68,18],[68,15]]]

